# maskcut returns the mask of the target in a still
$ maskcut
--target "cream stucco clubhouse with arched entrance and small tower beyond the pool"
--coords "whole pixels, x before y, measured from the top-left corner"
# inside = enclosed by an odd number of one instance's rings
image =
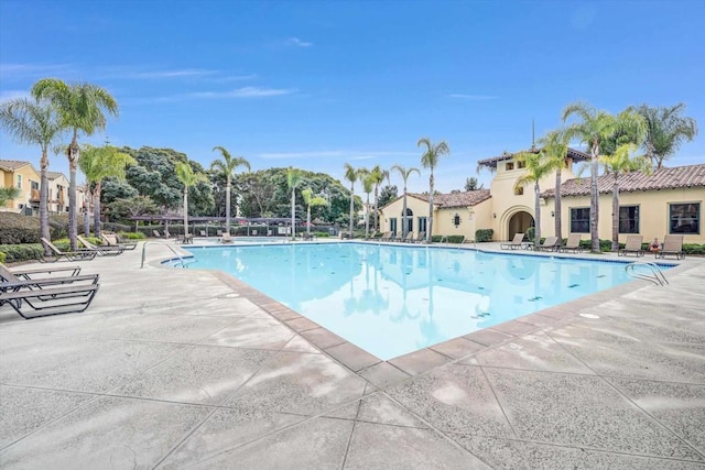
[[[514,233],[527,232],[534,226],[533,185],[516,187],[525,173],[517,154],[506,153],[478,162],[480,167],[495,172],[490,189],[434,195],[433,234],[462,234],[474,240],[478,229],[492,229],[495,241],[511,240]],[[573,166],[589,161],[589,155],[570,149],[562,170],[561,230],[564,238],[583,233],[589,239],[590,178],[577,178]],[[611,190],[614,175],[599,177],[599,238],[611,239]],[[703,205],[705,204],[705,164],[661,168],[647,175],[633,172],[619,176],[619,241],[639,233],[644,242],[658,237],[679,233],[685,243],[705,243]],[[555,232],[555,174],[543,178],[541,187],[541,234]],[[382,208],[381,231],[427,231],[429,196],[406,195],[408,227],[402,229],[403,197]]]

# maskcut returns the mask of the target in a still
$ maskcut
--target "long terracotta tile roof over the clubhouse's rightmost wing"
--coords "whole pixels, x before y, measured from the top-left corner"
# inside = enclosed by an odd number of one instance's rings
[[[683,187],[705,188],[705,164],[660,168],[651,175],[631,172],[619,175],[619,192],[632,193],[640,190],[674,189]],[[603,175],[597,181],[599,193],[611,193],[614,175]],[[542,197],[553,197],[555,190],[546,189]],[[561,196],[588,196],[590,194],[589,176],[568,179],[561,185]]]

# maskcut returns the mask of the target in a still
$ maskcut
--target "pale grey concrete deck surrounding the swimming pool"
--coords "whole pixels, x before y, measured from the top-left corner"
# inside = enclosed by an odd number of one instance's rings
[[[83,314],[0,308],[1,468],[705,468],[705,259],[383,362],[140,255],[75,263]]]

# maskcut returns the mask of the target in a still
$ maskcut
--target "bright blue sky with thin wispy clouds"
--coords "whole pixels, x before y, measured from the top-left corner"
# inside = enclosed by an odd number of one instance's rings
[[[685,102],[703,128],[703,18],[705,2],[684,0],[0,0],[0,99],[43,77],[89,81],[120,117],[83,142],[205,166],[221,145],[253,170],[340,179],[345,163],[422,170],[417,140],[445,140],[436,188],[449,192],[468,176],[488,186],[477,161],[527,149],[532,119],[538,138],[573,101]],[[0,133],[0,159],[36,165],[39,150]],[[701,132],[669,165],[704,162]],[[423,170],[409,181],[427,184]]]

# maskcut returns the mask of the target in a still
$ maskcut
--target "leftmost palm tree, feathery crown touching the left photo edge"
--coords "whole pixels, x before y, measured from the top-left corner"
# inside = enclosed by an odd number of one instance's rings
[[[46,177],[48,150],[63,131],[56,109],[50,103],[40,103],[26,98],[12,99],[0,103],[0,123],[2,123],[3,130],[18,142],[39,145],[42,150],[40,159],[40,232],[48,240],[51,238],[47,207],[48,179]],[[14,197],[10,199],[14,199]]]

